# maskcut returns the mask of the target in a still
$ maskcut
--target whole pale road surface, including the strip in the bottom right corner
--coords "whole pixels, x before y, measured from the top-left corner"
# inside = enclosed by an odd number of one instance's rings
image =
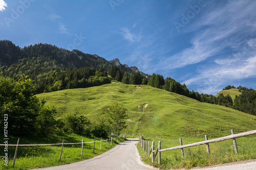
[[[104,169],[104,170],[146,170],[157,169],[145,165],[140,161],[139,153],[136,148],[136,143],[139,139],[129,139],[128,141],[118,144],[115,148],[107,151],[97,157],[84,161],[38,168],[38,170],[80,170],[80,169]],[[193,168],[199,170],[256,170],[256,160],[241,161],[234,163],[226,163],[202,168]],[[34,169],[35,170],[35,169]]]

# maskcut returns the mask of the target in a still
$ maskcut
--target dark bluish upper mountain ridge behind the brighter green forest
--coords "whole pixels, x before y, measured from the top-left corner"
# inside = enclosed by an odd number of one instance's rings
[[[0,41],[0,67],[10,66],[19,62],[20,59],[32,59],[36,57],[40,62],[53,62],[57,67],[103,67],[108,70],[111,66],[118,66],[121,70],[131,73],[132,71],[138,72],[136,66],[129,67],[126,64],[121,64],[119,59],[111,61],[105,60],[94,54],[83,53],[78,50],[68,51],[51,44],[35,44],[20,48],[8,40]],[[51,65],[53,66],[53,65]],[[143,76],[145,75],[141,72]]]

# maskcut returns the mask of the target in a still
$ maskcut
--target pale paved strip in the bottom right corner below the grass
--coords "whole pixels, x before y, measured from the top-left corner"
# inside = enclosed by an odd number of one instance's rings
[[[240,161],[233,163],[225,163],[221,165],[209,166],[205,168],[193,168],[200,170],[255,170],[256,169],[256,159],[248,161]]]

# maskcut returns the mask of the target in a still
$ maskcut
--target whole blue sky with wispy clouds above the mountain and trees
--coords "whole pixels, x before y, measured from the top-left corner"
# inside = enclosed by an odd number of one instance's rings
[[[256,89],[256,1],[0,0],[0,39],[48,43],[217,94]]]

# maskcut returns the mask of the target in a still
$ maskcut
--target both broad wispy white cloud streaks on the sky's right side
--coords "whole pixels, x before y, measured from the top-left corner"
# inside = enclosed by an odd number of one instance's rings
[[[199,91],[208,93],[227,82],[256,77],[256,2],[227,1],[214,6],[201,11],[200,19],[183,29],[183,33],[193,35],[191,46],[156,65],[158,70],[170,70],[205,61],[208,65],[200,66],[198,75],[183,82],[197,84]]]

